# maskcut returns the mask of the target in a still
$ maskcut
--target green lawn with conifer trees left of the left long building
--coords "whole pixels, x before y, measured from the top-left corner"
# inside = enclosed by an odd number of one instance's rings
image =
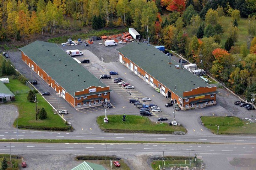
[[[10,79],[10,83],[6,84],[15,95],[16,101],[12,104],[16,105],[19,110],[18,127],[25,129],[38,129],[38,130],[63,130],[67,131],[68,126],[57,114],[53,114],[52,107],[46,102],[46,100],[37,93],[38,100],[37,108],[44,107],[47,112],[47,118],[44,120],[35,120],[35,103],[27,100],[29,87],[20,83],[17,79]],[[18,91],[18,92],[17,92]],[[14,121],[16,126],[16,120]]]

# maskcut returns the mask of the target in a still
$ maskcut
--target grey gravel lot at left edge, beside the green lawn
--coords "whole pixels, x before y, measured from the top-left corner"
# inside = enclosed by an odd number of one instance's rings
[[[18,108],[13,104],[0,104],[0,129],[14,129],[13,122],[16,119],[16,111]]]

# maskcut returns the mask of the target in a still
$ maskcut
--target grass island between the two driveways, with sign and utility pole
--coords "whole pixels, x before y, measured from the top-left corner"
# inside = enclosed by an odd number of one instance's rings
[[[101,130],[116,133],[165,133],[171,134],[174,131],[187,132],[183,126],[169,126],[167,123],[150,121],[146,116],[127,115],[126,121],[122,121],[123,115],[108,116],[109,123],[103,123],[105,116],[97,117],[97,123]]]

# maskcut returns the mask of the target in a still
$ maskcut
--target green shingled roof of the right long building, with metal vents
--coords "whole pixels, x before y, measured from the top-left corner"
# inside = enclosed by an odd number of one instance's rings
[[[152,45],[132,42],[117,51],[183,99],[187,98],[183,96],[185,91],[191,91],[197,87],[211,87],[187,69],[176,69],[175,65],[180,64],[173,59],[171,59],[172,64],[168,64],[168,56]]]

